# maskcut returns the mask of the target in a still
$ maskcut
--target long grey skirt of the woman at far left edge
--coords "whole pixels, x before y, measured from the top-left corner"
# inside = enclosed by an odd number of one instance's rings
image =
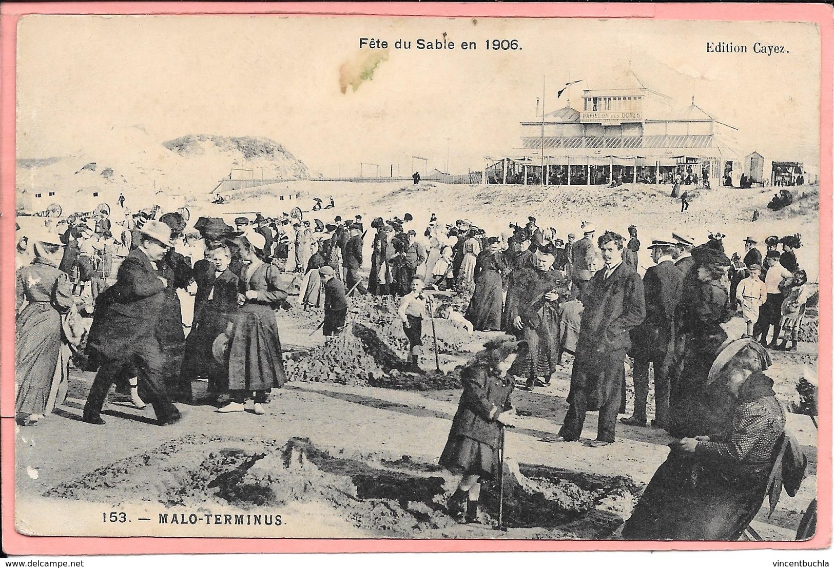
[[[28,304],[18,315],[14,335],[18,384],[15,412],[45,415],[58,369],[61,315],[50,304]]]

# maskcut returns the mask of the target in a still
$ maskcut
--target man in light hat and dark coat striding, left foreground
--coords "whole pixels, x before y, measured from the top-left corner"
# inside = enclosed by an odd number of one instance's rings
[[[116,284],[96,302],[87,346],[100,367],[83,411],[83,420],[90,424],[104,424],[99,414],[110,385],[133,370],[138,371],[140,395],[153,405],[159,424],[180,419],[179,411],[168,400],[157,333],[168,281],[154,264],[162,261],[173,244],[171,229],[161,221],[148,221],[138,237],[137,248],[118,269]]]

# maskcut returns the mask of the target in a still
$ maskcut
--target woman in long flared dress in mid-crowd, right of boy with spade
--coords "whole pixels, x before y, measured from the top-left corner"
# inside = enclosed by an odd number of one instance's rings
[[[490,237],[488,243],[489,248],[478,254],[475,261],[475,292],[465,317],[478,331],[499,331],[504,300],[501,276],[507,265],[499,252],[498,237]]]

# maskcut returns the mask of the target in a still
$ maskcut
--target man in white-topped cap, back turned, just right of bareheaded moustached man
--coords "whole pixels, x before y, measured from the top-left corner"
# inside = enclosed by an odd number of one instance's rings
[[[655,368],[655,420],[651,425],[666,426],[669,412],[669,365],[675,347],[675,309],[681,299],[683,274],[672,262],[675,243],[653,241],[651,258],[655,266],[646,269],[643,289],[646,294],[646,319],[631,330],[631,356],[634,357],[634,414],[620,422],[646,425],[646,399],[649,395],[649,363]]]

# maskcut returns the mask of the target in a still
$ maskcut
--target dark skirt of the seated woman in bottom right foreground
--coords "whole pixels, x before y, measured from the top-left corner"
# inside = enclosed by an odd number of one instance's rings
[[[672,450],[623,526],[627,540],[738,540],[764,500],[769,465],[745,471]]]

